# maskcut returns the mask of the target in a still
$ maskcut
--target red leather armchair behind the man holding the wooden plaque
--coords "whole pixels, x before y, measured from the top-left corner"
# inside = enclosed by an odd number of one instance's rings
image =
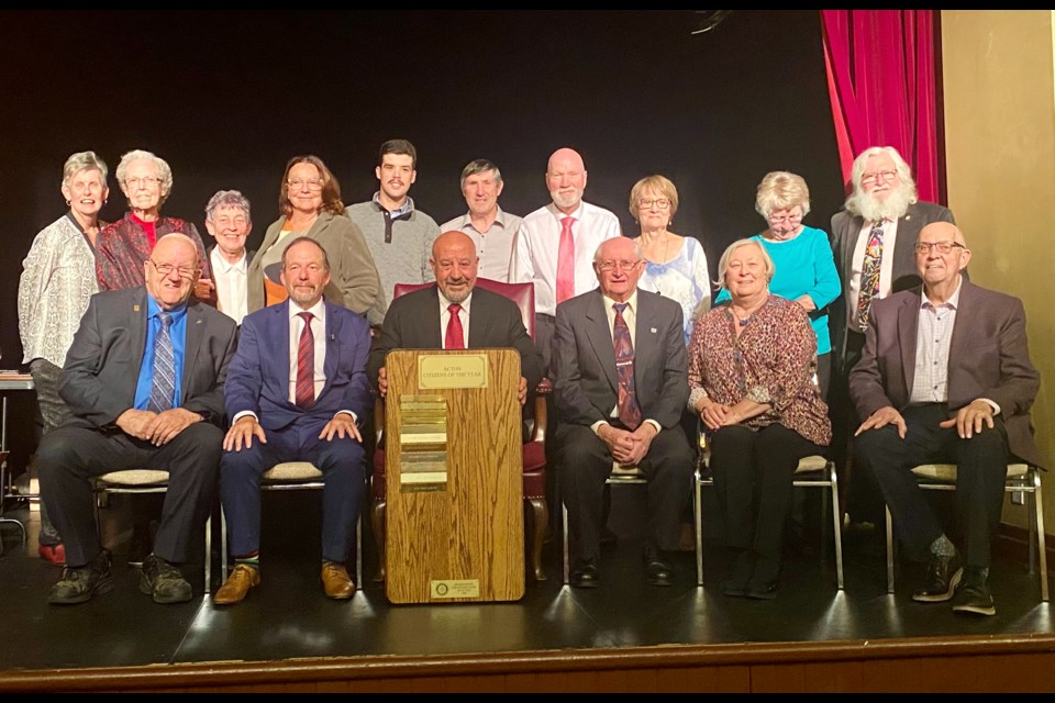
[[[392,298],[399,298],[414,290],[427,288],[433,283],[397,283]],[[520,309],[524,327],[532,339],[535,337],[535,287],[534,283],[503,283],[488,278],[477,278],[476,287],[484,288],[509,298]],[[528,426],[526,439],[523,445],[523,492],[524,502],[529,507],[531,570],[536,581],[545,581],[546,572],[542,568],[542,546],[546,538],[549,523],[549,509],[546,505],[546,395],[552,392],[549,379],[544,378],[535,388],[534,403],[525,408],[525,423]],[[374,429],[376,434],[376,449],[374,451],[374,471],[370,481],[370,493],[374,507],[370,524],[374,529],[374,539],[377,545],[378,571],[376,581],[385,580],[385,401],[376,400],[374,405]]]

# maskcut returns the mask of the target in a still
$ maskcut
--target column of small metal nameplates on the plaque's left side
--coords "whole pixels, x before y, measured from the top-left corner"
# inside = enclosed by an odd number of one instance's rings
[[[399,489],[430,493],[447,489],[447,399],[403,395],[399,401]]]

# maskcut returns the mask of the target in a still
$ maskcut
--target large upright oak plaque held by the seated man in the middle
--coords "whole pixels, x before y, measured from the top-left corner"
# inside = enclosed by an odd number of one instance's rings
[[[395,349],[385,366],[386,595],[523,598],[520,355]]]

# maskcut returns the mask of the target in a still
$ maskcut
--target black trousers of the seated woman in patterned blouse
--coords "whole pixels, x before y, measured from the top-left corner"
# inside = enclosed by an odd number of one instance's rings
[[[795,469],[814,454],[824,448],[776,423],[762,429],[732,425],[711,435],[710,468],[726,546],[782,561]]]

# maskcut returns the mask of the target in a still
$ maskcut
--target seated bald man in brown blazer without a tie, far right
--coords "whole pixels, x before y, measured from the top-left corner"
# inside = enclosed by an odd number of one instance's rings
[[[922,287],[873,302],[849,375],[851,399],[865,419],[854,460],[874,471],[909,555],[926,559],[912,599],[952,600],[954,612],[993,615],[987,579],[1008,462],[1042,465],[1029,414],[1040,375],[1022,301],[964,277],[971,253],[955,224],[924,226],[913,253]],[[932,462],[957,466],[959,547],[911,473]]]

